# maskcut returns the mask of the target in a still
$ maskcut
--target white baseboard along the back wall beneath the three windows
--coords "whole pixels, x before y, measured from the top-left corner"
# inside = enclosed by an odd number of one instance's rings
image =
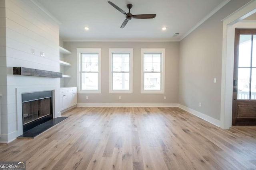
[[[178,107],[168,103],[78,103],[77,107]]]

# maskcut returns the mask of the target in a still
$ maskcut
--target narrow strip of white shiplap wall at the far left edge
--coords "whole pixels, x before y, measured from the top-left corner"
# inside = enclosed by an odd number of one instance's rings
[[[5,133],[3,131],[4,125],[2,122],[7,122],[7,116],[4,114],[6,111],[7,100],[7,81],[6,81],[6,19],[5,19],[5,1],[0,0],[0,135]],[[5,111],[5,112],[4,112]]]

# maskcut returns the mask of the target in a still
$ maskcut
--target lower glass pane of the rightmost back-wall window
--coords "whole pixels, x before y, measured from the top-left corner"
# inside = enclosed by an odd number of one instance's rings
[[[144,90],[161,90],[161,73],[144,73]]]

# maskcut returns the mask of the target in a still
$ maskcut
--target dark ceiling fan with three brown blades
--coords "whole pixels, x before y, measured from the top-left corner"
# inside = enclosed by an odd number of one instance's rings
[[[130,13],[130,9],[132,8],[132,4],[127,4],[127,8],[129,9],[129,12],[126,13],[124,12],[121,8],[119,8],[118,6],[116,6],[116,4],[114,4],[113,2],[108,1],[108,3],[110,5],[112,5],[114,8],[116,8],[118,11],[122,12],[126,18],[124,20],[124,22],[122,23],[120,28],[124,28],[124,26],[126,25],[126,23],[131,20],[132,18],[138,18],[138,19],[150,19],[150,18],[155,18],[156,14],[140,14],[140,15],[132,15]]]

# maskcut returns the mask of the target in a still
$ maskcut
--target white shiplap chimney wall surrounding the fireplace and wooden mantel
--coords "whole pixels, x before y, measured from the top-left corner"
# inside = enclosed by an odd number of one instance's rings
[[[7,121],[2,121],[0,142],[17,137],[16,88],[60,86],[60,78],[13,75],[15,66],[59,72],[59,26],[30,0],[5,2],[7,98],[2,102],[6,104],[2,114]],[[31,53],[32,48],[35,55]],[[41,51],[45,57],[40,57]]]

